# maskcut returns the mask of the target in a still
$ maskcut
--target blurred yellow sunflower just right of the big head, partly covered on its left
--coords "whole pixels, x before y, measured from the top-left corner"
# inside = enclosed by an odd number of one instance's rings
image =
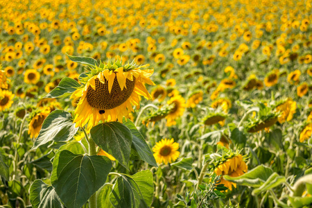
[[[182,96],[177,95],[173,96],[167,103],[168,105],[172,105],[173,108],[171,112],[166,116],[167,126],[175,125],[178,117],[182,116],[185,110],[185,100]]]

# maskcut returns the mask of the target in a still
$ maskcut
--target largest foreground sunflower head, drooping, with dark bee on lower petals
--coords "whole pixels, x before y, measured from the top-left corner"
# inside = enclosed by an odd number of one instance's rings
[[[133,112],[132,105],[139,107],[139,96],[152,98],[144,84],[155,85],[149,78],[154,69],[141,70],[148,65],[137,67],[134,62],[123,67],[121,64],[101,63],[80,80],[83,86],[71,95],[73,99],[81,97],[73,120],[76,127],[88,123],[90,130],[98,121],[122,121],[123,116]]]

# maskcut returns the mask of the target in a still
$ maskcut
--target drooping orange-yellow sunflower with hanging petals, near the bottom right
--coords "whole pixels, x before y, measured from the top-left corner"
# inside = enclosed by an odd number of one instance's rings
[[[227,159],[225,162],[218,164],[218,166],[214,169],[214,173],[216,175],[229,175],[231,177],[239,177],[248,171],[248,166],[243,161],[242,155],[236,155],[235,157]],[[236,188],[236,184],[234,182],[229,182],[224,180],[221,177],[221,184],[224,184],[225,187],[229,188],[232,191],[232,186]]]

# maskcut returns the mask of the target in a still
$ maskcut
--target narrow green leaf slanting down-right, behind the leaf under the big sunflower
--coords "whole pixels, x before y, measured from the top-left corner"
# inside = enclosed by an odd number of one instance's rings
[[[131,131],[131,134],[132,134],[131,148],[137,152],[140,159],[147,162],[151,166],[157,167],[157,163],[155,161],[153,152],[150,150],[148,144],[146,144],[146,141],[144,137],[141,135],[141,133],[139,132],[139,130],[137,130],[137,128],[135,127],[135,124],[132,123],[130,119],[128,119],[128,121],[123,119],[123,124],[127,126],[129,130]]]

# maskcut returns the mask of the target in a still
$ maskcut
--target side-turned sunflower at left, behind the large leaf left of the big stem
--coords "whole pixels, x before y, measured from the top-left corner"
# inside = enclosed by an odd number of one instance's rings
[[[33,116],[31,116],[31,121],[28,125],[28,135],[30,135],[31,138],[35,138],[39,135],[42,123],[44,122],[44,119],[46,119],[46,116],[49,115],[49,113],[49,107],[44,107],[37,113],[33,113]]]

